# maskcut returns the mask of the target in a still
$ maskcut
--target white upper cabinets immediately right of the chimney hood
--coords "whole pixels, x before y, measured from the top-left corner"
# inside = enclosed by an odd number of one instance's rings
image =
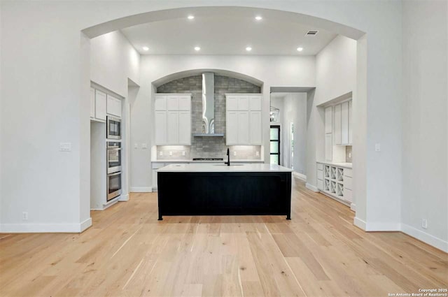
[[[261,94],[226,94],[226,145],[262,145]]]

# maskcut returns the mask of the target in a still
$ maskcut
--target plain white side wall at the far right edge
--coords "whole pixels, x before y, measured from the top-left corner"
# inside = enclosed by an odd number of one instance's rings
[[[403,2],[402,229],[446,252],[447,15],[446,1]]]

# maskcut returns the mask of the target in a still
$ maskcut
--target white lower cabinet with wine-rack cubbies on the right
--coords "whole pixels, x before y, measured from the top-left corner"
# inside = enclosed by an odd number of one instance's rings
[[[351,168],[317,163],[317,189],[346,205],[353,201],[352,178]]]

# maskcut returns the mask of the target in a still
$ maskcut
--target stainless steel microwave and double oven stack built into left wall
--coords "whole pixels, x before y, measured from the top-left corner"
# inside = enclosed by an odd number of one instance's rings
[[[121,195],[121,119],[107,117],[107,201]]]

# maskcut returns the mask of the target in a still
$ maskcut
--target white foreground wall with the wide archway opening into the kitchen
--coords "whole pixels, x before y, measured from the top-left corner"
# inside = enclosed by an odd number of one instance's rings
[[[213,3],[224,5],[222,1]],[[79,224],[80,197],[86,187],[80,176],[88,174],[89,169],[85,152],[80,152],[87,150],[81,135],[88,132],[81,122],[88,120],[89,114],[89,105],[85,104],[88,100],[84,91],[85,75],[80,69],[80,56],[85,55],[80,50],[80,30],[137,13],[211,3],[206,0],[138,1],[132,5],[127,1],[1,1],[0,5],[2,224],[22,223],[20,215],[25,208],[31,212],[30,220],[36,223]],[[372,208],[372,219],[381,218],[374,214],[383,212],[385,200],[395,203],[401,194],[400,166],[393,166],[384,175],[386,166],[401,159],[401,145],[397,141],[401,138],[401,125],[396,124],[402,122],[402,61],[397,59],[402,53],[401,2],[229,0],[225,5],[304,13],[367,32],[367,136],[363,161],[369,183],[360,191],[366,201],[378,201]],[[320,24],[331,29],[328,23]],[[27,30],[23,31],[23,27]],[[345,30],[339,25],[333,28]],[[294,64],[285,66],[295,67]],[[252,65],[239,68],[251,72]],[[80,76],[83,76],[81,80]],[[269,108],[269,103],[264,108]],[[29,119],[33,119],[31,129],[27,125]],[[6,129],[6,124],[13,126],[14,132]],[[57,151],[59,143],[64,141],[72,143],[71,153]],[[381,154],[374,152],[374,143],[381,143]],[[384,220],[388,222],[391,212],[385,215]]]

